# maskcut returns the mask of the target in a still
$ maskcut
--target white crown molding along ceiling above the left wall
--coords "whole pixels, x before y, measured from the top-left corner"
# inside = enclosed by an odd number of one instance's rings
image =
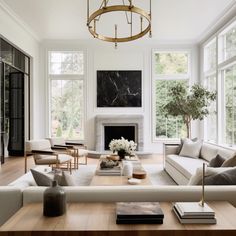
[[[9,15],[26,33],[40,42],[38,35],[19,17],[3,0],[0,0],[0,8]]]

